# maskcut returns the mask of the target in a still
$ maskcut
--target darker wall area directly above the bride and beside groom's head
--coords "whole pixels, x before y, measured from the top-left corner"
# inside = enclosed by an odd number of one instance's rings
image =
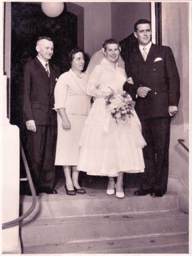
[[[137,20],[150,20],[150,6],[150,2],[112,2],[112,37],[121,41],[134,32]]]

